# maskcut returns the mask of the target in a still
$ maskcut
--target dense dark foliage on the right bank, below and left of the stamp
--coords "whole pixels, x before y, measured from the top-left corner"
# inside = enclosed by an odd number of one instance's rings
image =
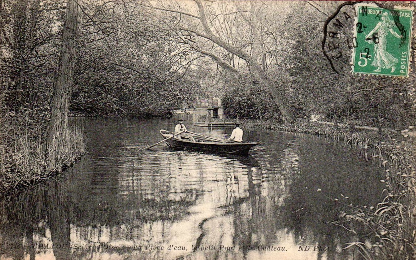
[[[322,33],[316,33],[322,32],[326,17],[321,15],[322,22],[316,22],[316,10],[307,6],[305,3],[295,6],[285,22],[287,28],[297,26],[297,30],[285,32],[288,38],[296,39],[290,45],[290,59],[286,61],[292,66],[287,70],[290,81],[284,84],[285,93],[294,106],[307,111],[303,117],[308,119],[317,114],[324,120],[391,129],[405,129],[414,124],[414,81],[351,75],[348,66],[335,73],[322,53]],[[334,10],[328,8],[328,11]],[[352,37],[349,27],[344,30],[345,35]],[[342,62],[349,64],[350,56],[344,56]]]

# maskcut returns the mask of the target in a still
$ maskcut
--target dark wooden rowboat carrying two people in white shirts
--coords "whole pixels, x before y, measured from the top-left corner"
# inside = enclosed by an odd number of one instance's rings
[[[160,130],[163,138],[173,136],[173,132],[167,130]],[[195,150],[213,152],[215,154],[248,154],[251,148],[263,142],[249,142],[249,143],[223,143],[220,141],[213,141],[208,136],[193,135],[195,142],[188,141],[188,139],[177,139],[173,137],[167,139],[165,142],[168,146],[176,149]]]

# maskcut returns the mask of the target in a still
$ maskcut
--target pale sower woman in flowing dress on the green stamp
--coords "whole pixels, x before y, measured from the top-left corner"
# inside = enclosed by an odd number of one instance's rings
[[[371,62],[371,66],[377,67],[374,72],[381,72],[381,68],[389,69],[391,72],[394,72],[396,69],[395,65],[399,62],[398,59],[393,57],[389,52],[387,52],[387,35],[389,32],[394,35],[394,37],[402,38],[403,36],[397,34],[393,28],[396,27],[394,21],[389,18],[389,14],[384,12],[381,15],[381,21],[374,27],[373,30],[366,36],[366,38],[372,38],[374,33],[377,33],[379,38],[378,42],[375,42],[374,45],[374,60]]]

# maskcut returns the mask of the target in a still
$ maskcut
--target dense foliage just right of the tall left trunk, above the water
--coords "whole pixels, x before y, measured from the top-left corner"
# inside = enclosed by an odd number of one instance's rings
[[[163,23],[138,3],[90,8],[103,22],[97,28],[86,17],[71,110],[156,116],[188,102],[193,91]]]

